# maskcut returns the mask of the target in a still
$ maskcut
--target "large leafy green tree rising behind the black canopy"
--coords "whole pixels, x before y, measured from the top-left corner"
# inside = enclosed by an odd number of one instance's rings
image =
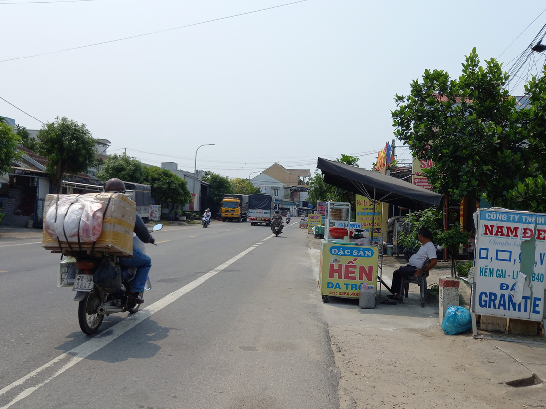
[[[532,177],[535,152],[521,149],[527,114],[515,109],[507,80],[494,58],[482,67],[474,48],[458,80],[426,70],[410,94],[396,95],[395,135],[419,159],[434,160],[425,173],[439,193],[500,204],[518,179]]]

